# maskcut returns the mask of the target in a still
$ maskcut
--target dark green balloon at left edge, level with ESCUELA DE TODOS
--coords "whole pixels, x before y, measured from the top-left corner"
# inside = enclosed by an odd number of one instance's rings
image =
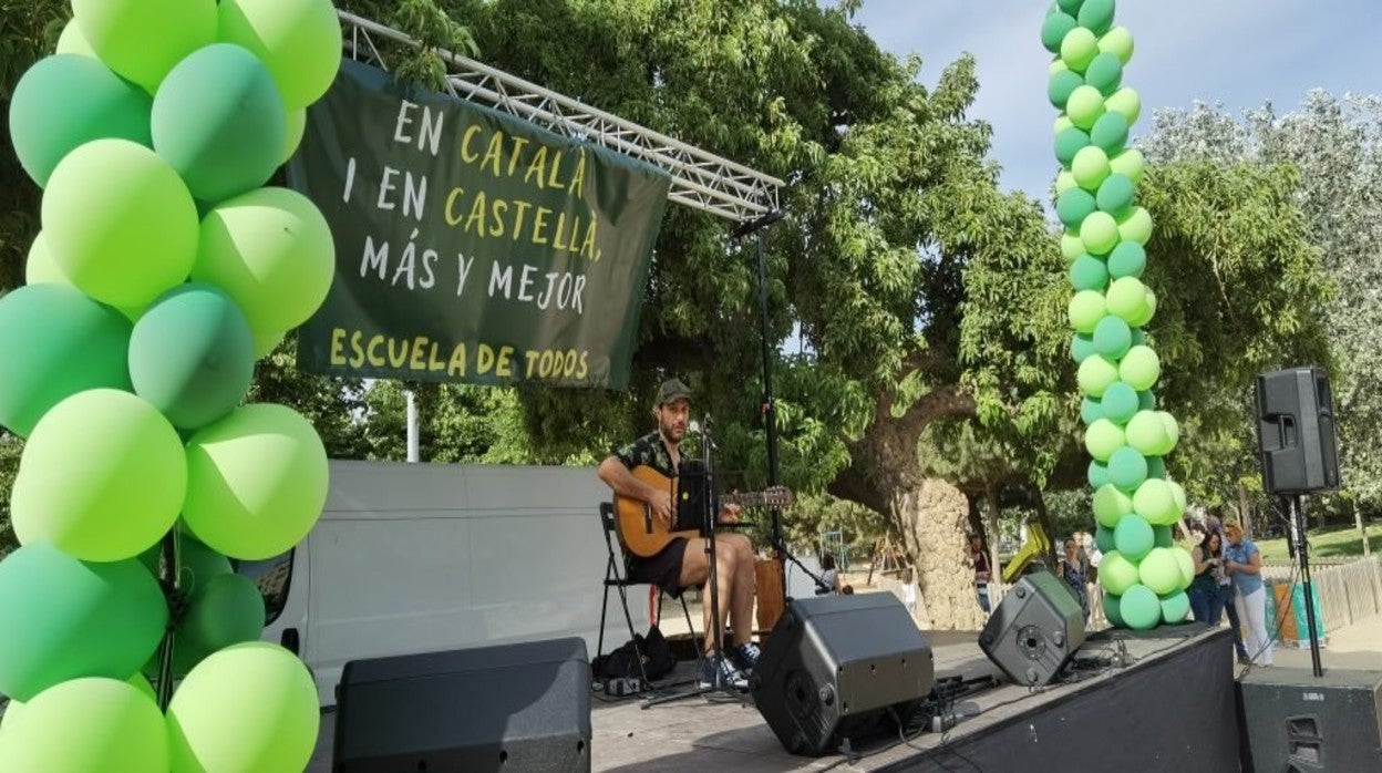
[[[130,321],[69,285],[26,285],[0,299],[0,425],[28,437],[62,400],[130,391]]]

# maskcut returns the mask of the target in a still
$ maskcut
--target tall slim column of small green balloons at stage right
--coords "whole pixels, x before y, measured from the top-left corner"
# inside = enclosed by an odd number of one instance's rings
[[[1190,553],[1171,527],[1186,509],[1184,490],[1166,477],[1164,458],[1180,436],[1157,411],[1151,389],[1161,376],[1143,328],[1157,296],[1142,282],[1151,216],[1135,203],[1146,162],[1128,148],[1142,112],[1122,84],[1133,39],[1114,26],[1114,0],[1057,0],[1042,25],[1042,44],[1056,54],[1048,95],[1056,119],[1056,214],[1066,225],[1060,249],[1075,293],[1071,355],[1079,364],[1085,448],[1093,456],[1095,539],[1104,611],[1135,629],[1180,622],[1190,611]]]

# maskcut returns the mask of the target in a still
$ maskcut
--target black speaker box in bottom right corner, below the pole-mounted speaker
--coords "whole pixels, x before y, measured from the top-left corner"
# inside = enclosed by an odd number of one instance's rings
[[[1382,672],[1255,668],[1237,698],[1245,773],[1382,770]]]

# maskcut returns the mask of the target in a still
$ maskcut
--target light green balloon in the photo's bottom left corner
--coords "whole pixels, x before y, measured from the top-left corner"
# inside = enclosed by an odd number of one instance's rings
[[[158,704],[117,679],[64,682],[25,704],[0,733],[0,770],[95,773],[169,769],[167,730]]]

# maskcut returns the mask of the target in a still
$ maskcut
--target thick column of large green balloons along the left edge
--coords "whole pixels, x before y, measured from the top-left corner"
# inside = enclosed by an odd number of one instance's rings
[[[0,770],[301,770],[316,687],[258,642],[264,600],[231,559],[292,549],[326,499],[312,425],[243,401],[332,282],[321,212],[264,185],[340,66],[336,11],[72,6],[10,108],[43,231],[0,299],[0,425],[26,438]],[[158,667],[181,678],[167,705]]]

